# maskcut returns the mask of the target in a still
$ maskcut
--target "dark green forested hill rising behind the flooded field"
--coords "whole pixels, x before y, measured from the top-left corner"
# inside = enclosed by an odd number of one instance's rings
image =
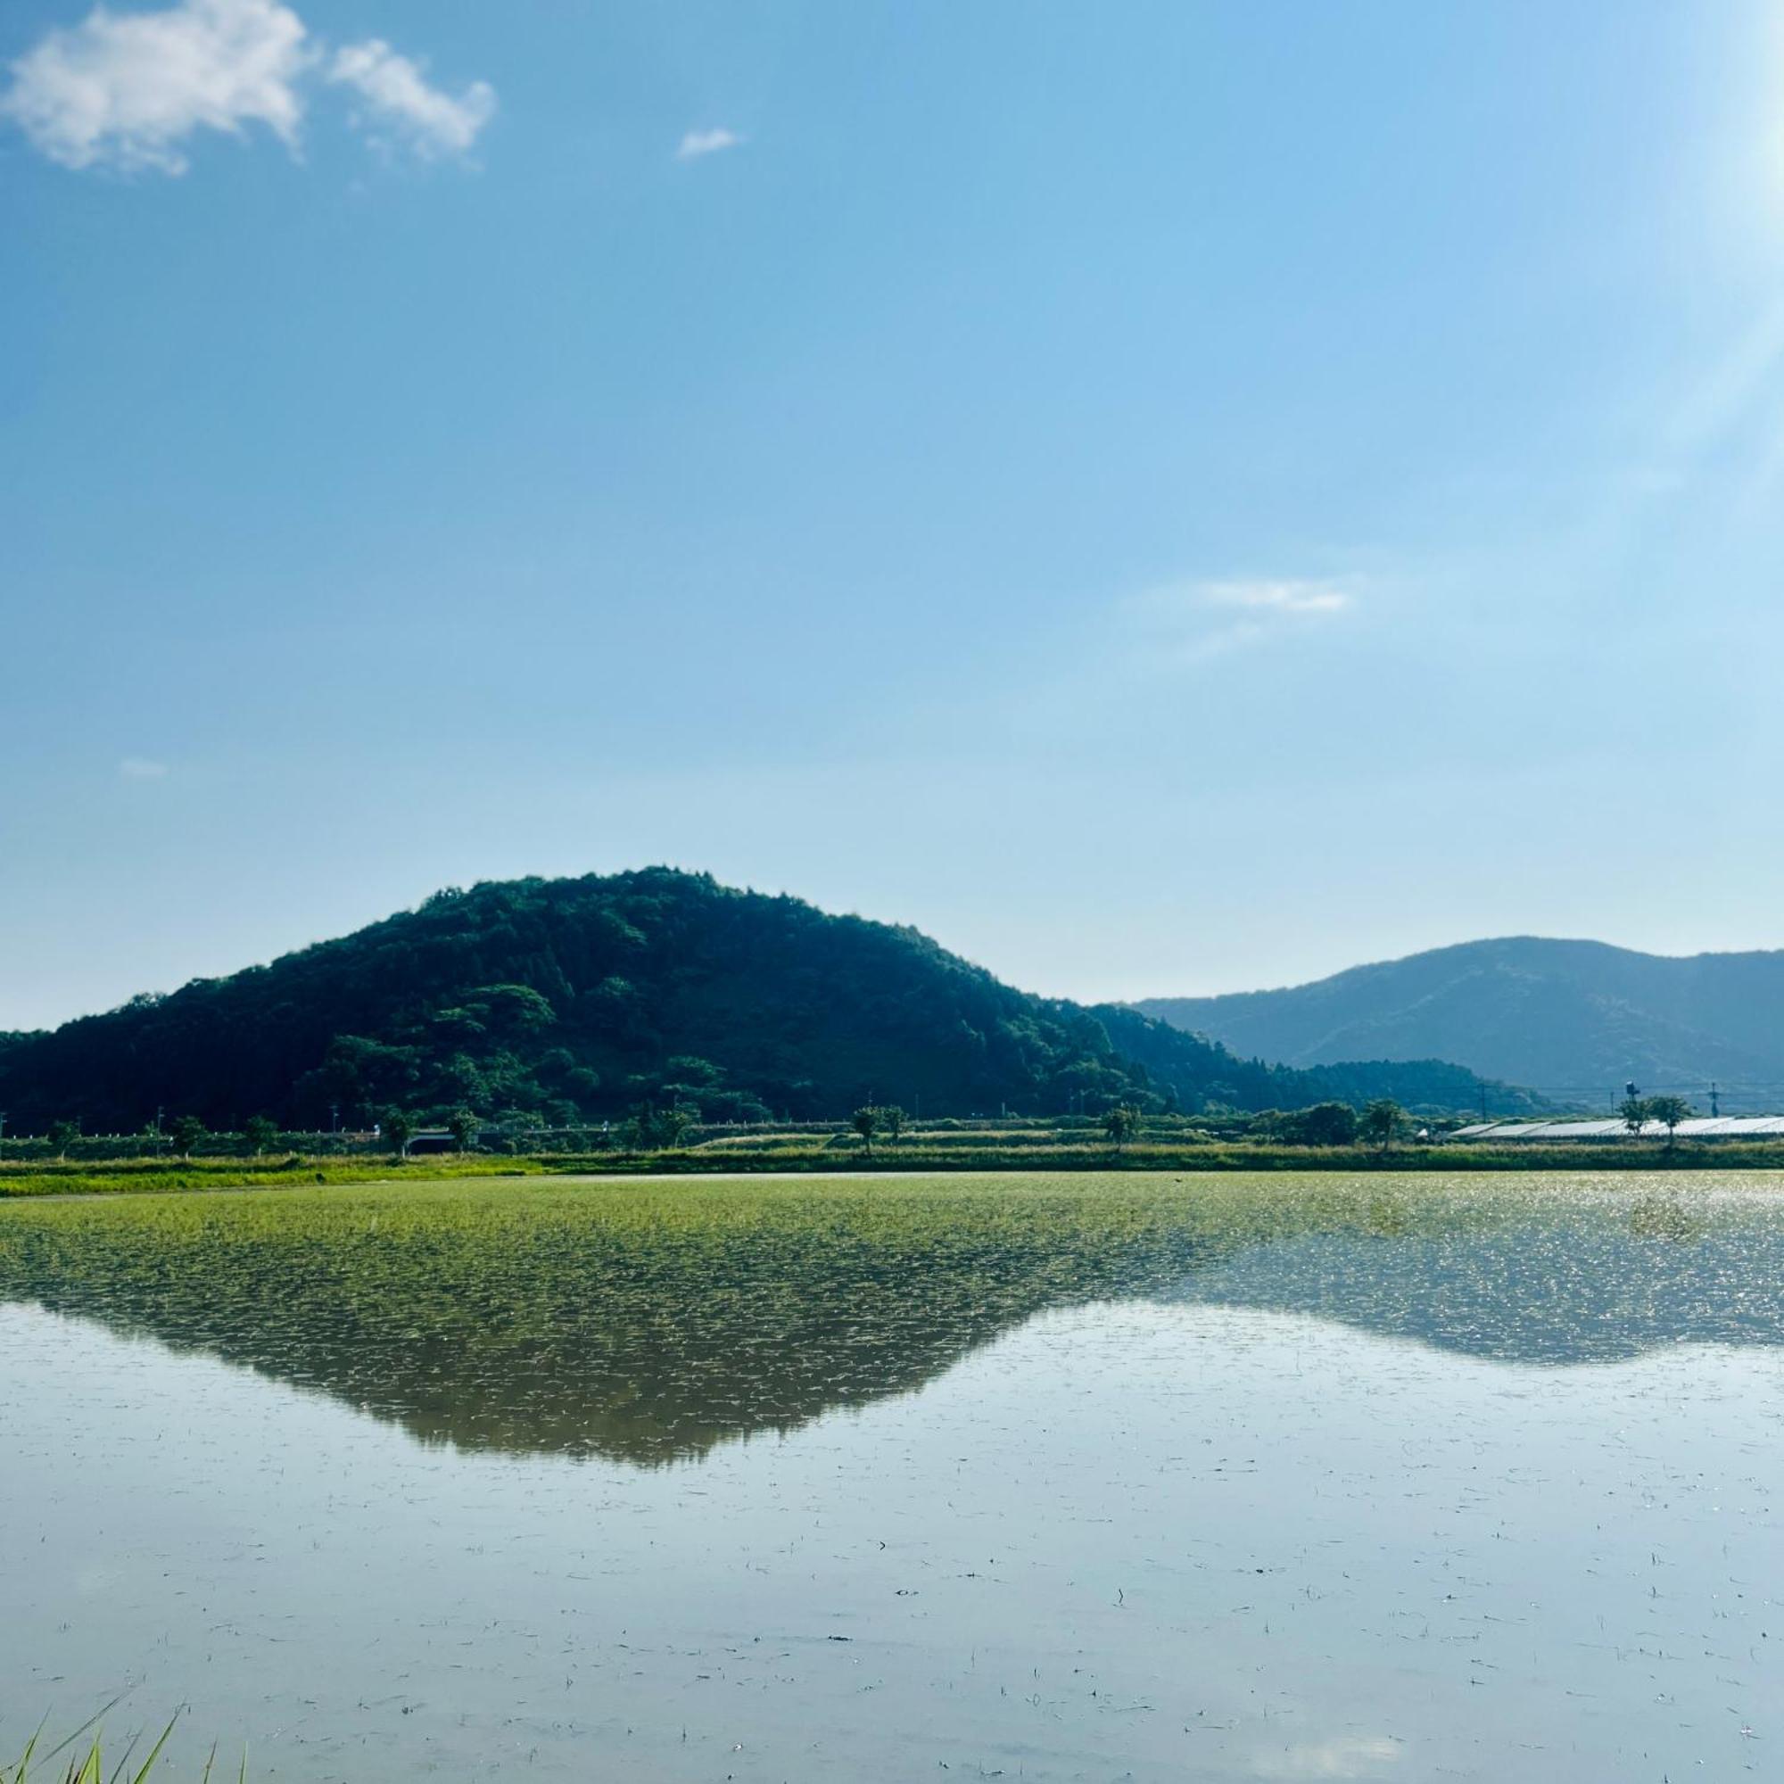
[[[441,892],[335,942],[54,1033],[0,1037],[14,1133],[157,1108],[234,1127],[343,1126],[389,1108],[599,1120],[642,1103],[708,1120],[1393,1095],[1477,1108],[1436,1063],[1297,1072],[1113,1006],[1031,997],[915,929],[644,869]],[[1527,1108],[1502,1086],[1495,1111]]]

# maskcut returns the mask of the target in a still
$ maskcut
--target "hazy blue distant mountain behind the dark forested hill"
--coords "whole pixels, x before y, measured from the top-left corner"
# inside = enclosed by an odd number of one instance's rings
[[[1591,1108],[1631,1079],[1706,1111],[1711,1083],[1723,1113],[1784,1104],[1784,951],[1666,958],[1509,937],[1286,990],[1135,1008],[1295,1067],[1429,1056]]]

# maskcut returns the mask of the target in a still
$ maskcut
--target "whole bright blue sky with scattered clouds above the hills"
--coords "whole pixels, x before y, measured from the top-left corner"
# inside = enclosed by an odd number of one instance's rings
[[[1775,4],[0,12],[0,1028],[648,862],[1784,944]]]

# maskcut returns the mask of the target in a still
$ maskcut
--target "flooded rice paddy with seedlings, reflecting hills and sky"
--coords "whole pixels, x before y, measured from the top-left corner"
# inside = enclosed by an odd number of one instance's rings
[[[1780,1340],[1761,1176],[0,1204],[0,1757],[1779,1777]]]

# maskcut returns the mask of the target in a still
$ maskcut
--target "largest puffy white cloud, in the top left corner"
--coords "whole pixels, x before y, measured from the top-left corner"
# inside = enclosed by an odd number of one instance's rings
[[[12,64],[0,100],[30,141],[64,168],[184,173],[194,130],[264,123],[298,139],[298,80],[310,52],[303,20],[278,0],[182,0],[166,12],[95,7]]]

